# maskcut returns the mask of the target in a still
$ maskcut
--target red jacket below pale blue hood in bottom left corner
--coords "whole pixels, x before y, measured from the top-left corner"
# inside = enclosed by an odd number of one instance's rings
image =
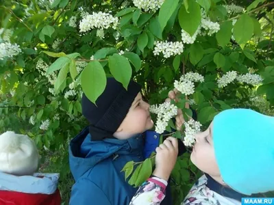
[[[60,191],[51,195],[41,193],[20,193],[16,191],[0,191],[0,205],[60,205]]]

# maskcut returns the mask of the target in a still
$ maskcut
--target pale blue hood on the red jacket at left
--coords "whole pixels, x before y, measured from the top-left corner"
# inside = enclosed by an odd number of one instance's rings
[[[34,176],[14,176],[0,172],[0,191],[22,193],[53,194],[58,186],[59,174],[40,174]]]

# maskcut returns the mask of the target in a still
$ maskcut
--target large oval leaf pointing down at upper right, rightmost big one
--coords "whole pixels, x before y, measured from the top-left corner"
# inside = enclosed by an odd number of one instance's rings
[[[233,36],[243,49],[253,35],[253,20],[248,14],[242,14],[234,25]],[[245,31],[245,32],[243,32]]]

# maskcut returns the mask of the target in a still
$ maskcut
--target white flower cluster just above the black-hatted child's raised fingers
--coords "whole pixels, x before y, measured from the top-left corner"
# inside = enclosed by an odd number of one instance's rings
[[[194,82],[203,82],[204,78],[201,74],[197,72],[188,72],[183,75],[179,81],[174,82],[174,87],[181,92],[182,94],[186,94],[186,96],[193,94],[195,92]]]

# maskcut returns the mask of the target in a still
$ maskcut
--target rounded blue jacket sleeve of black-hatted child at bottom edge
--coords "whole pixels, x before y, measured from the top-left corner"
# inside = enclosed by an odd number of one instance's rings
[[[108,197],[100,187],[91,180],[82,178],[78,180],[72,188],[70,205],[112,205]]]

